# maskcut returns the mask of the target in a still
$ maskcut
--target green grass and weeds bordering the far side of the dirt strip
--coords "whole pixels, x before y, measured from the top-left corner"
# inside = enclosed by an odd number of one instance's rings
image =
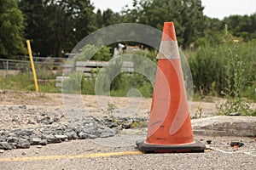
[[[218,105],[219,114],[229,115],[230,112],[241,112],[242,115],[256,116],[256,111],[251,110],[250,103],[256,102],[256,40],[243,42],[241,39],[232,37],[229,31],[224,31],[224,37],[219,40],[214,47],[205,45],[195,51],[183,50],[187,55],[189,66],[194,80],[194,100],[212,102],[211,97],[216,96],[225,99],[225,102]],[[106,50],[108,51],[108,50]],[[154,52],[142,55],[156,62]],[[135,59],[132,58],[131,59]],[[140,58],[139,58],[140,59]],[[151,71],[150,67],[143,64],[143,60],[138,60],[137,65],[143,67],[143,71]],[[110,87],[104,89],[110,91],[111,96],[126,97],[127,93],[131,96],[142,95],[152,97],[152,84],[141,74],[133,73],[128,75],[121,73],[113,77],[111,73],[116,71],[113,65],[109,70],[110,74],[102,77],[101,84],[109,82]],[[51,71],[37,69],[39,90],[42,93],[61,93],[60,88],[55,88],[55,76]],[[72,93],[96,94],[96,78],[84,79],[81,73],[70,75],[64,83],[68,89],[73,89]],[[112,76],[111,76],[112,75]],[[82,81],[80,81],[82,80]],[[108,83],[107,83],[108,84]],[[13,90],[34,91],[31,72],[23,72],[15,76],[0,77],[0,88]],[[130,91],[137,89],[137,91]]]

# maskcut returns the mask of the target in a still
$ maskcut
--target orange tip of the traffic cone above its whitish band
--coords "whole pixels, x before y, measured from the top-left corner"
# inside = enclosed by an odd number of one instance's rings
[[[162,41],[177,41],[173,22],[165,22]]]

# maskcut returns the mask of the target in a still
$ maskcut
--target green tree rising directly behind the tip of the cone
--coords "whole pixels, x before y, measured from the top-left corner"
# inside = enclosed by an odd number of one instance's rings
[[[162,30],[165,21],[173,21],[177,40],[184,47],[204,34],[201,0],[134,0],[133,9],[126,9],[125,21],[138,22]]]

